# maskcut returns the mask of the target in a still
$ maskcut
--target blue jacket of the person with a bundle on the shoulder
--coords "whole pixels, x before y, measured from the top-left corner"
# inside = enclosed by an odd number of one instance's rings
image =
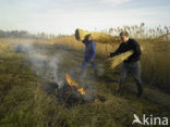
[[[85,43],[85,61],[89,62],[92,59],[94,60],[96,56],[96,43],[95,41],[83,40]]]

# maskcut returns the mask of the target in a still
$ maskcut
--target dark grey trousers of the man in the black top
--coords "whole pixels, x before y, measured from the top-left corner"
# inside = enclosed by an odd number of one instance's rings
[[[136,81],[137,89],[138,89],[138,96],[142,96],[143,93],[143,87],[142,87],[142,78],[141,78],[141,62],[132,62],[132,63],[123,63],[123,69],[121,73],[120,78],[120,85],[119,85],[119,92],[122,91],[122,86],[125,82],[125,79],[130,74],[133,76],[133,78]]]

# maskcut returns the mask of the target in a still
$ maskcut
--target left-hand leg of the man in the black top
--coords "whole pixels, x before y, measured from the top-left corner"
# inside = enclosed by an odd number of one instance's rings
[[[119,89],[118,89],[118,93],[119,94],[122,93],[122,87],[123,87],[123,84],[125,82],[125,79],[127,77],[127,73],[129,73],[129,68],[127,68],[126,64],[123,63],[123,68],[122,68],[122,73],[121,73],[121,77],[120,77],[120,82],[119,82]]]

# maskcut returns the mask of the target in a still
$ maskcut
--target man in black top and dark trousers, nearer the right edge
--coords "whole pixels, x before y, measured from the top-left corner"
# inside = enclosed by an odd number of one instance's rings
[[[116,50],[116,52],[109,53],[108,56],[116,56],[129,50],[133,50],[134,53],[123,62],[123,69],[121,73],[118,92],[121,94],[122,86],[126,77],[129,76],[129,74],[132,74],[133,78],[137,84],[137,89],[138,89],[137,96],[141,97],[143,94],[143,87],[142,87],[142,79],[141,79],[141,62],[139,62],[142,51],[139,45],[136,40],[129,38],[129,34],[126,31],[122,31],[120,34],[120,38],[122,40],[121,45]]]

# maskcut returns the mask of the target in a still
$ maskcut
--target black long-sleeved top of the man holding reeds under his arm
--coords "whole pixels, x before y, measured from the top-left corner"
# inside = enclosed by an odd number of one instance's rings
[[[141,59],[142,51],[141,51],[139,45],[136,40],[131,39],[131,38],[129,39],[127,42],[121,42],[117,51],[110,53],[110,56],[116,56],[129,50],[133,50],[134,53],[130,55],[127,60],[124,61],[125,63],[136,62]]]

